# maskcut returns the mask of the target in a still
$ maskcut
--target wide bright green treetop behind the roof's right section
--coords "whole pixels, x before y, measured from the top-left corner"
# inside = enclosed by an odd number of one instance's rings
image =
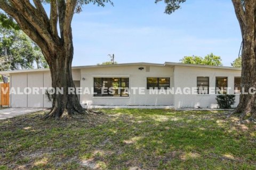
[[[181,60],[185,64],[201,64],[201,65],[222,65],[221,57],[211,54],[206,55],[204,58],[200,56],[185,56]]]

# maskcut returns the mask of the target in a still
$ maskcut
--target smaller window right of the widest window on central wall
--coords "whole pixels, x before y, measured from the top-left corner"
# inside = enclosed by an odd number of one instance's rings
[[[170,88],[170,78],[147,78],[147,89]]]

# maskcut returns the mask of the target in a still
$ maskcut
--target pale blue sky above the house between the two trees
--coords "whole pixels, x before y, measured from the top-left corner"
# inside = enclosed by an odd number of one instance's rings
[[[86,5],[73,19],[73,65],[179,62],[183,56],[219,55],[223,65],[238,56],[241,32],[231,0],[193,0],[171,15],[154,0],[113,0]]]

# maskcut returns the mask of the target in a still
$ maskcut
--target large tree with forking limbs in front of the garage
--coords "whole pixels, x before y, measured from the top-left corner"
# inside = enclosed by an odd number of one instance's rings
[[[52,110],[45,118],[66,117],[76,112],[84,113],[76,94],[68,94],[74,88],[71,74],[74,47],[71,21],[82,6],[93,3],[105,6],[110,0],[0,0],[0,8],[9,14],[42,50],[49,64],[53,88],[63,88],[63,94],[55,94]],[[42,3],[50,4],[47,16]],[[59,27],[59,28],[58,28]]]

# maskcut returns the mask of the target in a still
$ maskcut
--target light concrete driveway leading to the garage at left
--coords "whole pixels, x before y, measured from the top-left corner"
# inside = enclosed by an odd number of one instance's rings
[[[28,113],[34,113],[38,111],[42,111],[45,108],[5,108],[0,109],[0,120],[4,120],[6,118],[12,118],[19,115],[25,115]]]

